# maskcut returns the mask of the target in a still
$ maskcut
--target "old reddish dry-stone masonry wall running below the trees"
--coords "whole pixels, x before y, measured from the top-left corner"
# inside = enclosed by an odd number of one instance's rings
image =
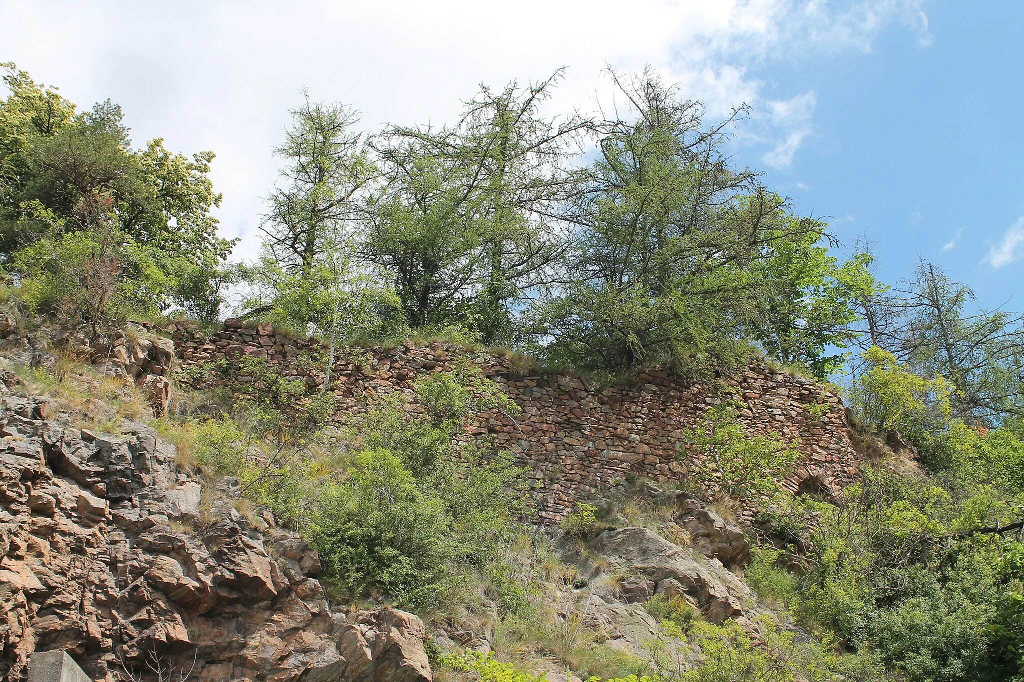
[[[303,355],[324,357],[319,343],[274,333],[269,325],[246,328],[228,320],[224,330],[212,337],[185,323],[167,331],[173,333],[182,367],[251,355],[284,368],[286,375],[304,379],[310,390],[324,380],[323,370],[300,361]],[[641,372],[628,385],[598,390],[588,379],[567,374],[519,376],[506,357],[447,344],[406,342],[395,349],[378,347],[365,353],[359,363],[351,354],[340,355],[335,363],[330,389],[338,419],[364,411],[377,396],[411,394],[418,375],[450,370],[459,355],[469,355],[486,376],[503,384],[522,413],[514,420],[481,414],[467,426],[464,439],[490,435],[531,469],[539,520],[545,524],[557,524],[575,499],[597,495],[631,475],[684,478],[687,457],[677,459],[683,429],[697,424],[714,403],[710,387],[658,369]],[[857,466],[839,397],[814,381],[760,365],[749,366],[736,384],[745,403],[739,419],[748,433],[797,442],[803,454],[781,485],[794,492],[838,495]],[[815,404],[825,406],[819,418],[808,409]]]

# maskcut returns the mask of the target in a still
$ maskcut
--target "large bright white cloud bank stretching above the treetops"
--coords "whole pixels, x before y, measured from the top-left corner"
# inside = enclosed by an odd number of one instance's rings
[[[224,236],[251,257],[270,149],[307,87],[351,103],[367,128],[450,121],[481,83],[538,80],[569,66],[552,110],[607,98],[605,63],[651,64],[702,99],[711,117],[754,107],[739,144],[792,164],[814,131],[813,92],[768,96],[755,67],[869,51],[888,26],[928,40],[921,0],[449,0],[282,3],[89,3],[0,0],[0,60],[61,87],[82,105],[122,104],[136,144],[162,136],[181,151],[214,149]],[[510,7],[513,7],[510,9]]]

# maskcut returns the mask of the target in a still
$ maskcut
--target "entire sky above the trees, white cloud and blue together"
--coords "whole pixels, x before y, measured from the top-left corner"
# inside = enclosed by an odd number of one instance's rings
[[[1024,309],[1018,0],[0,0],[0,60],[82,105],[112,97],[136,144],[217,153],[241,259],[302,88],[374,129],[451,120],[481,82],[559,66],[552,110],[593,110],[604,64],[651,64],[712,118],[748,102],[737,161],[844,240],[866,237],[884,279],[920,255],[983,304]]]

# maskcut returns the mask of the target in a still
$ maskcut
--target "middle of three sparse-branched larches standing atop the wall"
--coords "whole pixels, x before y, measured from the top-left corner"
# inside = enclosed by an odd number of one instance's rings
[[[558,206],[575,191],[568,145],[586,126],[541,116],[560,77],[483,88],[453,127],[392,127],[375,140],[383,183],[362,252],[413,326],[468,319],[483,342],[507,339],[513,308],[555,276]]]

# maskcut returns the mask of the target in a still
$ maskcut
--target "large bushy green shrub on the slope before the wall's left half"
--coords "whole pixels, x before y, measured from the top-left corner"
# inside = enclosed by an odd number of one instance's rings
[[[505,404],[494,382],[468,363],[421,377],[425,417],[384,401],[357,425],[365,447],[350,480],[331,490],[309,532],[325,565],[346,591],[383,591],[426,607],[460,572],[496,559],[526,511],[521,469],[507,454],[464,449],[452,439],[477,409]]]

